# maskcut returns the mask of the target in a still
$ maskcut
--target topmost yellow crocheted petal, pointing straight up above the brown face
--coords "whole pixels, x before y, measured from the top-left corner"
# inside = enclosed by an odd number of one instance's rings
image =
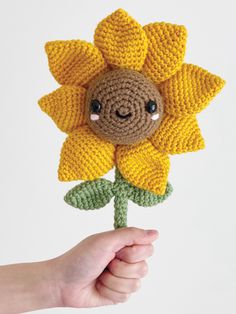
[[[141,70],[147,54],[147,37],[142,26],[124,10],[115,11],[98,24],[94,43],[110,65]]]

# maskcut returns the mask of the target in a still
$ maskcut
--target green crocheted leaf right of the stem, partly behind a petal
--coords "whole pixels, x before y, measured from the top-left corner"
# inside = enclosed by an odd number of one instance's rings
[[[157,195],[152,192],[139,189],[135,186],[131,187],[132,190],[129,193],[129,199],[139,206],[154,206],[158,203],[163,202],[172,193],[173,188],[170,183],[166,186],[166,192],[164,195]]]

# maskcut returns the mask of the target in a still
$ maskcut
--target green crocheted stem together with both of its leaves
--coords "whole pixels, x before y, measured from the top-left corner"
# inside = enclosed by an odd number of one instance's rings
[[[67,204],[84,210],[94,210],[104,207],[114,197],[114,228],[127,227],[128,200],[139,206],[149,207],[163,202],[173,191],[167,183],[164,195],[157,195],[130,184],[115,169],[115,181],[96,179],[76,185],[64,197]]]

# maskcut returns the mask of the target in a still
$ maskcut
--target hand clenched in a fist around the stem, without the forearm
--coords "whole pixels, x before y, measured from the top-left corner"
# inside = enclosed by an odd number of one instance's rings
[[[92,235],[49,261],[59,305],[95,307],[124,302],[147,273],[157,231],[122,228]]]

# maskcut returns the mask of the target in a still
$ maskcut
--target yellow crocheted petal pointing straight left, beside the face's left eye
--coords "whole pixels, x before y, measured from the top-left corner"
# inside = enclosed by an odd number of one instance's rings
[[[63,132],[69,133],[86,123],[83,87],[62,86],[39,100],[46,112]]]

